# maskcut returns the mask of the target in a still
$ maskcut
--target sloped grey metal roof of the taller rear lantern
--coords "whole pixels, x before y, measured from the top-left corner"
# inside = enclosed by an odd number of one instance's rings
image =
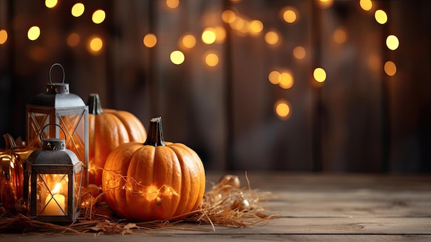
[[[38,105],[50,108],[67,108],[85,106],[81,97],[69,92],[68,83],[48,83],[45,92],[37,94],[30,105]]]

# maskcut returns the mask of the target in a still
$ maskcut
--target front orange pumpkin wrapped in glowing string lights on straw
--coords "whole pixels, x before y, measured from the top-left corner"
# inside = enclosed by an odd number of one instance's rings
[[[202,201],[204,166],[191,148],[163,140],[158,117],[145,143],[125,143],[109,154],[102,190],[109,208],[126,219],[178,220]]]

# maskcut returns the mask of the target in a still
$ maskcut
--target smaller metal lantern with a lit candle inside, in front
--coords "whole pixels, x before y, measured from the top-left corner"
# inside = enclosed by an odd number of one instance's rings
[[[83,165],[74,152],[65,148],[65,139],[42,139],[41,135],[41,140],[42,148],[25,160],[28,212],[39,221],[71,223],[80,214]]]

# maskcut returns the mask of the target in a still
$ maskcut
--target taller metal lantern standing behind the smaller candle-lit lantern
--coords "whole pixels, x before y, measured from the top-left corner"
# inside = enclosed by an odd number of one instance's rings
[[[63,70],[63,82],[52,83],[51,71],[55,65]],[[87,185],[88,176],[88,106],[83,99],[69,92],[69,84],[64,83],[63,66],[55,63],[50,68],[50,83],[45,92],[37,94],[26,106],[26,141],[30,147],[41,148],[39,135],[65,139],[66,148],[72,150],[84,165],[83,185]],[[41,127],[55,123],[47,130]],[[59,128],[65,130],[65,135]]]

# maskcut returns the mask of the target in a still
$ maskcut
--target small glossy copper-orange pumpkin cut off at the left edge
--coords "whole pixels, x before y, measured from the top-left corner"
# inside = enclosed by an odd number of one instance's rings
[[[18,147],[10,134],[3,134],[6,149],[0,150],[0,203],[6,210],[15,210],[23,196],[24,160],[36,148]]]

